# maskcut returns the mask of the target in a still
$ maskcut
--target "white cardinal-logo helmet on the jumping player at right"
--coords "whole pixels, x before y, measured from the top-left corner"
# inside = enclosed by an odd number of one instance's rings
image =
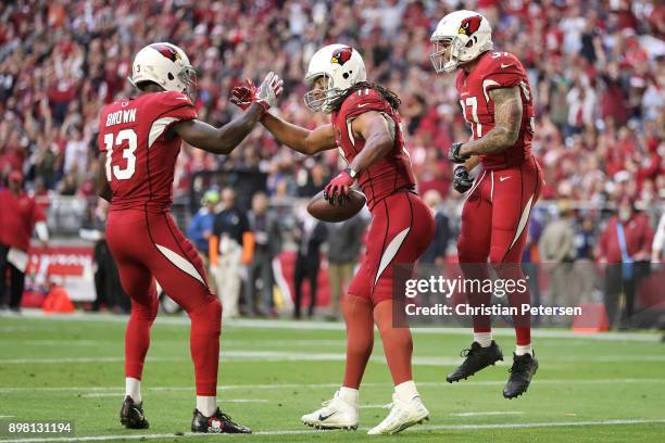
[[[474,11],[455,11],[446,15],[431,35],[434,52],[429,55],[437,73],[452,73],[460,63],[470,62],[494,48],[492,27]]]

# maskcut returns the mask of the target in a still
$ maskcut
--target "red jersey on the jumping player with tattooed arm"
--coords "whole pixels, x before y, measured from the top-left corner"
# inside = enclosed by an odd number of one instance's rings
[[[518,86],[523,111],[517,141],[503,152],[480,155],[480,163],[486,169],[501,169],[531,156],[534,99],[524,66],[515,55],[509,52],[486,52],[469,74],[460,69],[456,86],[462,113],[472,128],[474,139],[482,137],[494,127],[494,102],[489,91]]]

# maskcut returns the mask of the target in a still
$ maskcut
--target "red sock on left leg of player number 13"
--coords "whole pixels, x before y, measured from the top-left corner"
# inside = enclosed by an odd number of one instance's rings
[[[156,295],[148,300],[149,305],[131,301],[131,315],[125,331],[125,377],[138,380],[143,374],[143,362],[150,346],[150,328],[159,307]]]

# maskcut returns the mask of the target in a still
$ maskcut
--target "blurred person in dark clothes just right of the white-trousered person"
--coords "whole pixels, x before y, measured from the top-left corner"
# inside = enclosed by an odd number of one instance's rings
[[[249,315],[276,316],[273,304],[273,260],[281,251],[281,229],[279,220],[268,207],[268,198],[258,192],[252,198],[252,208],[247,214],[249,229],[253,237],[253,253],[247,265],[246,298]],[[261,296],[256,295],[256,287],[261,281]]]

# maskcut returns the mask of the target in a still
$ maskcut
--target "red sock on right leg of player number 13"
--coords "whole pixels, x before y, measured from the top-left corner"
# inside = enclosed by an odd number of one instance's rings
[[[189,349],[195,365],[197,395],[217,395],[217,367],[219,365],[219,333],[222,332],[222,304],[211,296],[190,311],[191,331]]]

